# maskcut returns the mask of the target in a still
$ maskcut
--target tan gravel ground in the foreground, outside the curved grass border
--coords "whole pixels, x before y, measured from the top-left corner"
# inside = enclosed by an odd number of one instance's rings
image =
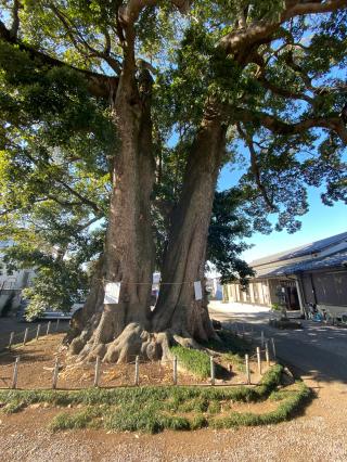
[[[291,422],[159,435],[47,429],[50,409],[1,415],[0,461],[347,461],[347,389],[312,383],[317,399]],[[56,411],[55,411],[56,412]]]

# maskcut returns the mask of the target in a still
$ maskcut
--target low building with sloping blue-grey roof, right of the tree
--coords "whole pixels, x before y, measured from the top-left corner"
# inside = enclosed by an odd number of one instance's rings
[[[307,312],[309,304],[347,311],[347,232],[254,260],[255,278],[245,288],[223,286],[228,301]]]

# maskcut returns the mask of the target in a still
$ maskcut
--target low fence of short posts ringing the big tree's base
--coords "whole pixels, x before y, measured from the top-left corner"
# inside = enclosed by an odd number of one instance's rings
[[[57,332],[59,323],[53,325],[49,322],[43,330],[38,324],[34,332],[34,338],[44,341],[50,332]],[[234,324],[229,329],[237,337],[243,337],[252,345],[252,352],[245,355],[244,371],[237,374],[237,382],[219,381],[216,378],[216,362],[210,357],[209,377],[205,381],[193,380],[187,372],[182,372],[180,361],[174,357],[169,361],[147,362],[137,356],[127,364],[105,364],[98,357],[94,363],[77,367],[66,367],[64,360],[59,356],[54,361],[43,361],[42,364],[29,362],[24,357],[17,356],[14,363],[11,362],[1,365],[2,373],[0,378],[0,388],[52,388],[52,389],[81,389],[94,387],[117,387],[117,386],[141,386],[141,385],[254,385],[261,377],[266,369],[270,367],[270,357],[275,360],[275,345],[273,338],[265,338],[261,333],[260,338],[255,337],[253,331],[246,332],[244,326],[241,329]],[[43,333],[42,333],[43,332]],[[11,333],[8,348],[15,352],[16,348],[28,342],[29,333],[33,330],[28,328],[21,333],[21,343],[13,344],[14,338],[20,334]],[[41,334],[41,335],[40,335]],[[255,343],[260,341],[260,346]],[[253,352],[254,349],[254,352]],[[35,372],[36,371],[36,372]],[[77,377],[77,378],[76,378]]]

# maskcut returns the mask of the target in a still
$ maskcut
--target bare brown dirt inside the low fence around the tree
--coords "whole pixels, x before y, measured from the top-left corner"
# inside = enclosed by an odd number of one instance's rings
[[[12,384],[13,364],[20,356],[17,388],[50,388],[52,384],[53,365],[59,359],[60,374],[57,388],[75,389],[92,386],[94,364],[72,367],[66,358],[66,349],[61,347],[64,334],[54,333],[44,335],[38,341],[28,342],[25,346],[17,345],[11,352],[0,355],[0,388],[9,388]],[[179,364],[178,364],[179,365]],[[259,381],[256,363],[250,363],[254,383]],[[266,370],[266,364],[264,364]],[[246,381],[244,372],[233,368],[232,373],[223,378],[217,378],[219,385],[239,385]],[[102,387],[127,386],[134,383],[134,363],[130,364],[101,364],[100,382]],[[178,372],[180,385],[209,383],[209,380],[197,380],[184,371]],[[140,363],[140,385],[171,385],[172,363],[152,362]]]

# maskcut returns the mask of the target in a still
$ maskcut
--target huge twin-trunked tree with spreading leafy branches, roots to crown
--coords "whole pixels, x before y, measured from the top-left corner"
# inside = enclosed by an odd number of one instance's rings
[[[56,134],[48,116],[54,105],[47,104],[54,91],[57,113],[70,107],[64,97],[83,107],[88,94],[95,123],[107,111],[100,125],[114,131],[104,249],[70,346],[80,359],[154,358],[167,355],[172,339],[195,345],[215,335],[192,283],[204,279],[220,167],[242,143],[249,169],[241,185],[256,227],[274,213],[279,229],[294,231],[308,207],[305,184],[326,183],[327,204],[346,200],[346,0],[2,3],[4,149],[21,130],[35,138],[42,124]],[[73,94],[64,92],[66,76],[75,76]],[[21,98],[33,104],[36,79],[47,80],[48,98],[37,92],[35,114],[31,106],[22,111]],[[79,116],[66,114],[76,133],[83,129]],[[30,141],[17,143],[29,167]],[[64,142],[57,137],[57,146]],[[49,163],[54,150],[44,155]],[[172,157],[183,174],[167,201],[160,185]],[[174,165],[172,178],[176,171]],[[169,231],[151,311],[153,209]],[[117,305],[103,304],[107,282],[121,282]]]

